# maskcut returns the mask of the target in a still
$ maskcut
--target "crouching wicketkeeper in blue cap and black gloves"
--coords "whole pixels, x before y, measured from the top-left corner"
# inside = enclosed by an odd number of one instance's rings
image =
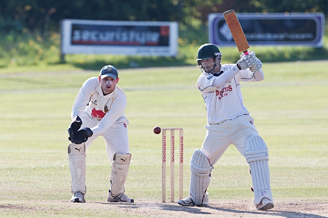
[[[129,121],[124,116],[127,99],[116,86],[118,80],[117,69],[111,65],[104,66],[99,77],[88,79],[76,96],[68,128],[72,142],[68,146],[72,202],[86,202],[86,151],[100,135],[105,138],[107,155],[112,163],[107,201],[134,202],[124,193],[131,154],[127,130]]]

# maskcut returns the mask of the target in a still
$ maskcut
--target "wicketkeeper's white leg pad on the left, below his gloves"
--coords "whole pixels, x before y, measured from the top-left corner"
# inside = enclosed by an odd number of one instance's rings
[[[86,193],[86,145],[85,143],[68,146],[68,160],[72,178],[72,193]]]

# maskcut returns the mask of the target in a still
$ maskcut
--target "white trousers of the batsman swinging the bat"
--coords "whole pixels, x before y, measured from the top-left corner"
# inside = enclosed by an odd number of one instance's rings
[[[250,115],[241,115],[219,124],[208,124],[204,128],[207,129],[207,132],[200,150],[206,154],[212,166],[220,159],[230,144],[234,144],[245,157],[245,142],[250,136],[258,135],[254,126],[254,119]]]

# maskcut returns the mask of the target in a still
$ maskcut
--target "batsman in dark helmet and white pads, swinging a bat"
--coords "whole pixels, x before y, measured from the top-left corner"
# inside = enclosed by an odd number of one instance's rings
[[[243,104],[240,81],[257,82],[264,79],[262,63],[249,51],[236,64],[221,64],[222,54],[214,44],[203,44],[197,53],[202,71],[196,87],[201,92],[207,110],[207,129],[200,150],[196,149],[190,162],[189,196],[180,199],[183,206],[209,206],[207,188],[211,171],[224,151],[234,144],[250,166],[254,204],[258,210],[274,207],[270,187],[268,147],[254,126],[254,119]]]

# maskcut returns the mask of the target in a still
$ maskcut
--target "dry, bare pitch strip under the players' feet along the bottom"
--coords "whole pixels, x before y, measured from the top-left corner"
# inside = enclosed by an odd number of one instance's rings
[[[0,211],[23,210],[25,212],[29,211],[28,213],[30,214],[33,214],[35,211],[47,211],[47,206],[45,205],[45,207],[43,207],[42,204],[43,203],[40,203],[37,207],[2,204],[0,205]],[[49,204],[49,202],[44,202],[44,204]],[[57,210],[57,214],[60,214],[61,210],[80,208],[81,211],[108,211],[112,214],[124,213],[127,217],[328,217],[327,202],[275,201],[275,207],[267,211],[256,210],[251,201],[214,201],[210,202],[210,207],[183,207],[177,203],[145,202],[136,202],[132,204],[108,202],[87,202],[85,204],[56,202],[56,206],[58,207],[55,209]],[[92,216],[92,214],[89,215]]]

